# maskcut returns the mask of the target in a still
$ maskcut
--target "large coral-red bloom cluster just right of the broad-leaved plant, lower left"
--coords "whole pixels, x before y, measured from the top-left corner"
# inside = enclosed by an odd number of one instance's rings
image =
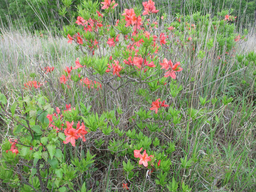
[[[69,142],[72,144],[72,146],[75,146],[75,140],[78,138],[82,138],[83,142],[86,141],[85,134],[88,132],[85,130],[85,125],[82,123],[80,125],[80,122],[76,124],[76,129],[73,128],[74,121],[71,123],[69,121],[66,121],[67,128],[64,130],[64,134],[67,136],[66,141],[63,141],[64,144],[68,144]]]

